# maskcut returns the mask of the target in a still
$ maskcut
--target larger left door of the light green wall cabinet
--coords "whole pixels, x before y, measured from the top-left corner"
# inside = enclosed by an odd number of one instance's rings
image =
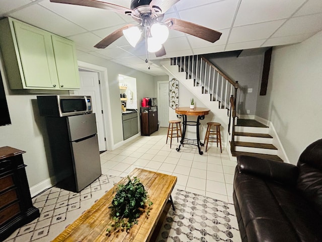
[[[58,88],[51,34],[18,21],[13,24],[25,88]]]

